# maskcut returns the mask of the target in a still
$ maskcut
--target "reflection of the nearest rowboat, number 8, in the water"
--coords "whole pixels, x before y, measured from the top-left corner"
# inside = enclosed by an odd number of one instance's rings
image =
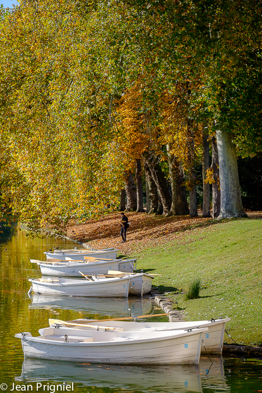
[[[119,366],[25,359],[20,377],[31,382],[69,382],[128,392],[202,392],[198,365]],[[77,387],[74,387],[76,390]]]

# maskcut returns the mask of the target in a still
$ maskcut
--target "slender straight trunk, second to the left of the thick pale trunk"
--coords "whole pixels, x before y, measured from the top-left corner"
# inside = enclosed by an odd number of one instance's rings
[[[203,217],[210,217],[210,184],[205,183],[206,171],[209,168],[209,141],[208,141],[208,131],[204,127],[203,130],[203,156],[202,156],[202,173],[203,173]]]

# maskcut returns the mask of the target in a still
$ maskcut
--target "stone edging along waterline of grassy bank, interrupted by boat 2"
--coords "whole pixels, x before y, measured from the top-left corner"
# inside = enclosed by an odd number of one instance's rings
[[[163,311],[169,313],[169,322],[180,322],[184,320],[185,315],[179,311],[173,309],[173,301],[166,296],[155,296],[154,301]],[[224,355],[233,355],[241,358],[262,358],[262,347],[252,347],[249,345],[234,345],[224,344],[223,351]]]

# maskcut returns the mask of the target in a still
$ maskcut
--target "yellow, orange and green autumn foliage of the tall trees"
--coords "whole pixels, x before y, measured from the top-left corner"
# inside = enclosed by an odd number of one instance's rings
[[[187,190],[197,216],[203,130],[230,133],[238,155],[262,150],[261,11],[254,0],[1,8],[0,220],[12,211],[61,232],[114,210],[138,160],[159,212],[185,214]]]

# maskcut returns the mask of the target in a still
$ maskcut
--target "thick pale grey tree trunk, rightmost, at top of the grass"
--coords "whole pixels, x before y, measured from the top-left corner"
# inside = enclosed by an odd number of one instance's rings
[[[233,134],[221,130],[216,131],[216,140],[221,189],[218,218],[247,217],[241,201]]]

